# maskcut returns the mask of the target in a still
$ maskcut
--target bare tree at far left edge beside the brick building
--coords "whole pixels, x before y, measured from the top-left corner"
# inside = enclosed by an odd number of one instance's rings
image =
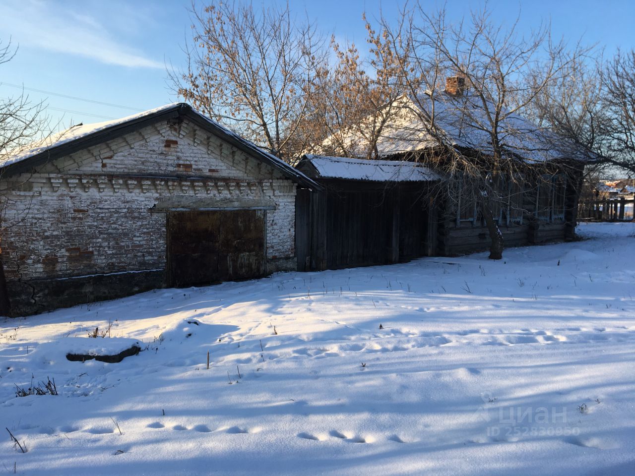
[[[0,39],[0,67],[10,62],[16,53],[17,48],[13,48],[11,39],[7,43]],[[46,131],[48,119],[44,115],[44,103],[30,101],[24,91],[15,96],[0,98],[0,165],[4,166],[11,155],[29,143],[41,140]],[[5,218],[8,201],[6,195],[0,195],[0,244],[4,231],[11,226]],[[1,258],[0,246],[0,315],[9,315],[10,303]]]

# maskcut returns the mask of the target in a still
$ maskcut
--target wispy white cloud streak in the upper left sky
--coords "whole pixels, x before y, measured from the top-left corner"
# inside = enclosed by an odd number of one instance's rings
[[[8,32],[20,46],[84,56],[110,65],[164,68],[163,62],[149,58],[117,38],[116,25],[112,22],[117,13],[123,12],[116,11],[116,4],[112,4],[114,15],[108,18],[95,18],[85,7],[80,2],[3,1],[0,2],[0,29]],[[130,17],[125,20],[130,22]],[[142,29],[143,25],[138,27]]]

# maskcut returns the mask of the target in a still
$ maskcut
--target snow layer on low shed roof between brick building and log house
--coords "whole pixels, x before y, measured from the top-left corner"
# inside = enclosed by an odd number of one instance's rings
[[[431,169],[415,162],[351,159],[324,155],[305,155],[305,159],[311,162],[321,178],[369,182],[426,182],[440,178]]]

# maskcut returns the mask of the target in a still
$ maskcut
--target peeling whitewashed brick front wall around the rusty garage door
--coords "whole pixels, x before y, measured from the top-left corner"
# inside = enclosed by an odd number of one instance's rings
[[[187,121],[157,124],[4,180],[8,280],[163,269],[159,199],[269,199],[267,256],[295,255],[295,183]]]

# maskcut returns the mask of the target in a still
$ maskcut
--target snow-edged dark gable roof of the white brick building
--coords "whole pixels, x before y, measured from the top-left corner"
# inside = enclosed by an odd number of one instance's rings
[[[28,149],[23,149],[15,154],[9,155],[9,157],[0,161],[0,173],[3,176],[7,176],[30,171],[34,167],[45,164],[46,162],[126,135],[156,122],[185,117],[205,131],[220,137],[237,149],[277,169],[290,180],[304,187],[321,188],[299,170],[278,159],[275,155],[265,152],[265,150],[260,149],[260,147],[254,143],[224,128],[218,124],[218,122],[203,116],[203,114],[194,110],[187,103],[171,103],[157,107],[156,109],[134,114],[133,116],[115,119],[114,121],[97,122],[95,124],[80,125],[66,129],[61,133],[32,143]]]

